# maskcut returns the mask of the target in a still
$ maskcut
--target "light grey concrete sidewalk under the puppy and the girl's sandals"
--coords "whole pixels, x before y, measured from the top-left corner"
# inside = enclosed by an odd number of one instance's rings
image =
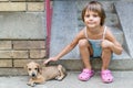
[[[80,81],[79,74],[80,72],[69,72],[62,81],[49,80],[34,88],[133,88],[133,72],[113,72],[112,84],[103,84],[99,72],[89,81]],[[28,76],[0,77],[0,88],[32,88],[27,81]]]

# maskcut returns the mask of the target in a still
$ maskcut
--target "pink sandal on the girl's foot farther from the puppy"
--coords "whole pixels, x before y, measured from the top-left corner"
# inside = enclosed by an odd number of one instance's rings
[[[102,81],[105,84],[113,81],[113,76],[111,74],[111,70],[109,70],[109,69],[101,72],[101,78],[102,78]]]

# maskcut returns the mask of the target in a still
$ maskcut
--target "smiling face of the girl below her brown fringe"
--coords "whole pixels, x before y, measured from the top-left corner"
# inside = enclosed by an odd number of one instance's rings
[[[88,28],[94,29],[96,26],[100,26],[101,18],[99,16],[98,12],[85,11],[84,23]]]

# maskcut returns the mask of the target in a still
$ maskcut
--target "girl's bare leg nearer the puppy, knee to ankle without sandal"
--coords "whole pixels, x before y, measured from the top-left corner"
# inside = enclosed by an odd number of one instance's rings
[[[80,40],[79,41],[79,48],[82,62],[84,64],[84,67],[91,70],[91,63],[90,63],[90,55],[92,55],[92,48],[89,44],[88,40]]]

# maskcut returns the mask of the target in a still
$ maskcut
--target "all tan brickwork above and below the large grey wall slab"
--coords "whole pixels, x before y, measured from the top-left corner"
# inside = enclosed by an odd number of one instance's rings
[[[0,0],[2,12],[44,12],[43,0]],[[44,38],[0,38],[0,75],[27,75],[30,61],[42,63],[45,56]]]

